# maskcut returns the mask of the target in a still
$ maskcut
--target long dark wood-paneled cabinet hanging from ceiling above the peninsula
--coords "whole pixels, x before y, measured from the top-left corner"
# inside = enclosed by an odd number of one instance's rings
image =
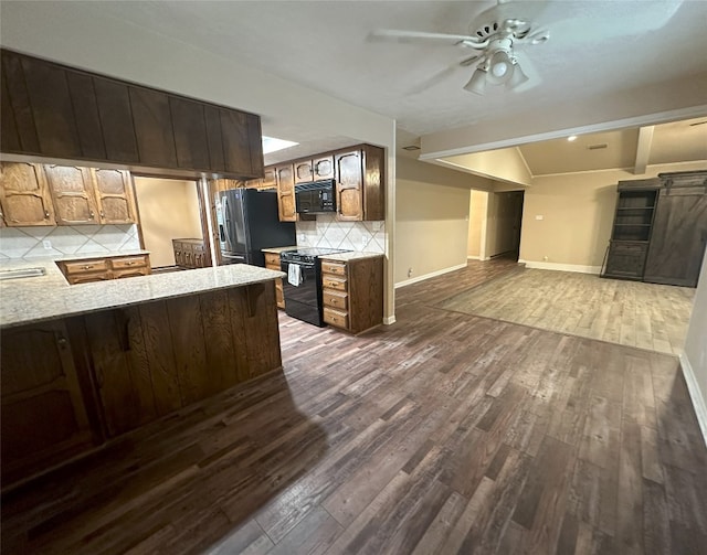
[[[3,152],[263,177],[258,116],[1,54]]]

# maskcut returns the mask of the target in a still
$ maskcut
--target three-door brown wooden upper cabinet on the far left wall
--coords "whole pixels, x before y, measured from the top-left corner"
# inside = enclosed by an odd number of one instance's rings
[[[75,166],[0,162],[8,226],[137,222],[130,173]]]

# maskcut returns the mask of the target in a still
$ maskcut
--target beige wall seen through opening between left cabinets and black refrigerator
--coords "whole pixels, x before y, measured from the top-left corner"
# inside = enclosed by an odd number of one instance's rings
[[[172,239],[202,238],[196,181],[134,178],[145,248],[152,268],[175,265]]]

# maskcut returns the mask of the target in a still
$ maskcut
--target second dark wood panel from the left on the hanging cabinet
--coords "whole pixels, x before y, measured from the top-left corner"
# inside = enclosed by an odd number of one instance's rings
[[[66,71],[57,65],[23,57],[22,70],[40,141],[45,156],[82,156]]]

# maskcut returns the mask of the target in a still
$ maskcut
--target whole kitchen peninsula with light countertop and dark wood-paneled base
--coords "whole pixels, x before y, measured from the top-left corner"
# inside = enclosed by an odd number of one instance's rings
[[[3,489],[282,367],[274,280],[246,265],[0,281]]]

